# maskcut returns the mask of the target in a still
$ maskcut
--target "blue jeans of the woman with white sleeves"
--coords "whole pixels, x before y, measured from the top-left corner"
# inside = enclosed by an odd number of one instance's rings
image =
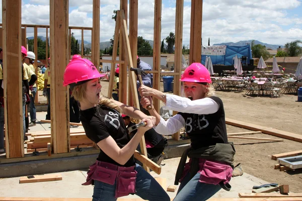
[[[190,172],[188,172],[184,180],[180,183],[176,197],[173,201],[203,201],[207,200],[218,192],[220,185],[213,185],[199,182],[200,174],[196,173],[190,180]]]

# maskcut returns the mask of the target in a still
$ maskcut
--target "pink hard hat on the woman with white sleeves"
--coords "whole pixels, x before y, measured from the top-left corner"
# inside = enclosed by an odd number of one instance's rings
[[[212,83],[210,73],[201,63],[192,63],[181,75],[180,81]]]

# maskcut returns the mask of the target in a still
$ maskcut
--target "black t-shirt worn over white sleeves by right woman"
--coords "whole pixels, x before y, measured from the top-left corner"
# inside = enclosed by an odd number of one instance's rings
[[[216,143],[228,143],[222,100],[216,96],[210,98],[219,105],[216,113],[209,115],[178,113],[185,119],[186,133],[191,139],[193,149],[215,145]]]

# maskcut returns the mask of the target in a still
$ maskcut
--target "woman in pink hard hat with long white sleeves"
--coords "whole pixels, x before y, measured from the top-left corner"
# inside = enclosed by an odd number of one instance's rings
[[[153,88],[140,86],[143,107],[152,105],[152,98],[166,104],[167,110],[178,114],[165,121],[154,109],[156,131],[171,135],[185,127],[191,139],[180,160],[175,185],[181,182],[174,201],[207,200],[221,188],[230,190],[235,149],[228,143],[222,100],[213,96],[208,70],[200,63],[192,63],[181,79],[186,97],[165,94]],[[186,163],[187,156],[190,158]]]

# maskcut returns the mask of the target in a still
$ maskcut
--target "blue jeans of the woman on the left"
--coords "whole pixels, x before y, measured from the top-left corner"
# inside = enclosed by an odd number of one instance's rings
[[[136,195],[146,200],[170,201],[170,197],[167,194],[167,192],[155,180],[155,178],[153,178],[153,176],[147,173],[138,164],[136,164],[135,170],[137,171],[136,182],[135,182]],[[115,198],[115,187],[116,187],[116,182],[114,183],[114,185],[110,185],[95,180],[92,201],[117,200],[117,198]]]

